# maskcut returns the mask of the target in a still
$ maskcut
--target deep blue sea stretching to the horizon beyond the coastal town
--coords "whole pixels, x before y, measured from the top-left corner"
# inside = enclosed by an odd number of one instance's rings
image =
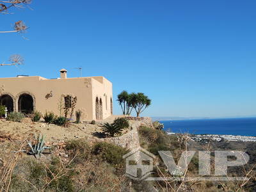
[[[164,131],[189,134],[256,136],[256,117],[160,120]]]

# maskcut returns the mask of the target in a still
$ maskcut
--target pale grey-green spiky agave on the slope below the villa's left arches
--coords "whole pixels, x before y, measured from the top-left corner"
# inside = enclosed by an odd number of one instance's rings
[[[45,146],[45,141],[44,141],[45,136],[41,134],[38,135],[36,139],[36,143],[34,145],[31,144],[31,142],[28,142],[28,145],[30,147],[30,151],[28,154],[35,156],[36,158],[40,158],[41,154],[44,153],[44,150],[49,148]]]

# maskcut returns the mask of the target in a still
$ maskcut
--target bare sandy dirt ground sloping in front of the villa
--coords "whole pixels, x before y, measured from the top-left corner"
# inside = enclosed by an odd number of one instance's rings
[[[79,138],[99,138],[102,132],[101,125],[106,122],[113,122],[118,116],[111,116],[106,120],[96,122],[92,125],[90,122],[83,124],[72,123],[70,127],[60,127],[54,124],[46,124],[45,122],[8,122],[0,120],[0,133],[12,136],[12,138],[24,137],[26,134],[44,134],[45,141],[66,141]]]

